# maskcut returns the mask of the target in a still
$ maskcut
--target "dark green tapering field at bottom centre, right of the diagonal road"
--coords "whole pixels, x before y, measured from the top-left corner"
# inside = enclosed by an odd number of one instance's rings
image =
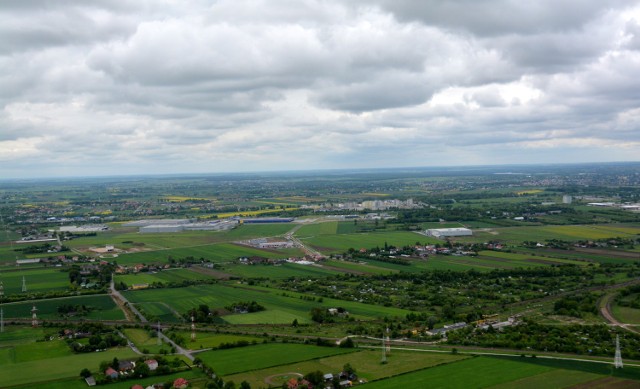
[[[319,347],[294,343],[268,343],[227,350],[199,353],[198,357],[217,374],[226,376],[234,373],[264,369],[271,366],[287,365],[294,362],[351,353],[354,349]]]

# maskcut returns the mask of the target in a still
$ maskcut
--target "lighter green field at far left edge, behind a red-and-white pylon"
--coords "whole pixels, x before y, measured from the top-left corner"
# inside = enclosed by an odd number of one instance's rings
[[[5,295],[21,294],[23,277],[27,293],[69,289],[69,273],[60,271],[60,268],[21,268],[0,271]]]

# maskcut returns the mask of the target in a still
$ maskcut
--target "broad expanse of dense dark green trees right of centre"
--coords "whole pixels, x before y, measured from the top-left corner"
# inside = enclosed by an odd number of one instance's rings
[[[341,300],[395,306],[425,312],[454,321],[472,321],[487,311],[507,304],[604,285],[604,277],[636,272],[632,264],[618,266],[554,266],[527,269],[496,269],[489,272],[434,270],[422,273],[400,272],[361,276],[343,274],[316,282],[290,278],[277,282],[280,289]],[[312,313],[317,322],[331,322],[323,309]],[[426,320],[426,318],[425,318]]]

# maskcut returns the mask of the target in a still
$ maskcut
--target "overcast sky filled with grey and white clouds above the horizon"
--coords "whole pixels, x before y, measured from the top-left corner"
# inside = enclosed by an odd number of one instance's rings
[[[0,2],[0,178],[640,160],[640,1]]]

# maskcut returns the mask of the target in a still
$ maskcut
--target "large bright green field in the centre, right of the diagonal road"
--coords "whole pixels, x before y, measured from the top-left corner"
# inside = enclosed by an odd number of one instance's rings
[[[379,307],[354,301],[343,301],[325,298],[322,303],[300,298],[301,294],[286,292],[272,288],[238,284],[197,285],[186,288],[148,289],[124,292],[134,304],[142,306],[145,313],[152,309],[160,309],[158,313],[173,316],[173,308],[185,313],[200,304],[211,309],[219,309],[239,301],[257,301],[266,310],[256,313],[225,315],[222,318],[234,324],[288,324],[294,319],[299,323],[310,323],[310,311],[313,307],[344,307],[356,319],[371,320],[383,316],[404,317],[409,311],[391,307]],[[166,304],[166,305],[165,305]],[[154,313],[155,314],[155,313]],[[149,318],[151,319],[151,318]],[[164,316],[163,318],[164,319]],[[177,319],[173,319],[176,321]]]

